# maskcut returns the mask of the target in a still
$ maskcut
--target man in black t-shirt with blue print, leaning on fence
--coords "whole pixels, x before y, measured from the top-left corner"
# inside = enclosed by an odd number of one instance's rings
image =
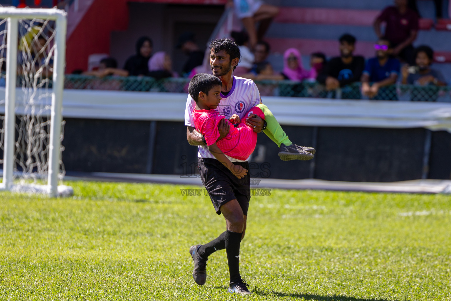
[[[324,66],[318,75],[319,83],[325,84],[327,90],[336,90],[360,80],[365,67],[363,56],[353,56],[355,37],[344,34],[339,39],[340,56],[334,57]],[[350,91],[350,94],[353,92]],[[355,93],[354,93],[355,94]],[[358,92],[358,94],[360,94]],[[346,98],[356,98],[357,95]],[[360,96],[359,96],[360,97]]]

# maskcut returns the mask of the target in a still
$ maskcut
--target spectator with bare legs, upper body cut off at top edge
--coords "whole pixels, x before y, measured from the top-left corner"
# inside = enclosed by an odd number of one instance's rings
[[[251,49],[262,40],[272,19],[279,13],[276,6],[264,4],[261,0],[229,0],[228,3],[235,6],[235,14],[248,32]],[[258,30],[255,28],[257,22],[260,23]]]

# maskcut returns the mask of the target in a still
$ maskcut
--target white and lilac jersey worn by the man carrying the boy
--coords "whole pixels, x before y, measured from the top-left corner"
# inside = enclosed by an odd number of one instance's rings
[[[226,116],[229,119],[233,114],[239,116],[239,119],[243,120],[246,112],[249,111],[251,107],[257,106],[260,100],[260,93],[258,92],[257,85],[252,79],[244,79],[241,77],[234,76],[232,88],[229,94],[222,95],[221,102],[216,108],[220,114]],[[188,94],[188,99],[186,100],[185,108],[185,125],[195,127],[193,120],[193,110],[196,107],[196,102]],[[216,159],[212,153],[208,151],[206,145],[199,145],[198,157],[200,158],[213,158]],[[227,156],[228,157],[228,156]],[[230,161],[241,161],[228,157]]]

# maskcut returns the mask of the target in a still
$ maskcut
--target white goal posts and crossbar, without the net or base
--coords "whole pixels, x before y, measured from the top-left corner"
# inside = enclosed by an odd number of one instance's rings
[[[50,19],[56,23],[55,51],[53,65],[53,86],[51,96],[51,127],[49,144],[49,167],[47,189],[50,196],[57,196],[58,173],[60,170],[61,110],[64,88],[64,62],[66,53],[67,14],[60,9],[18,9],[0,7],[0,19],[7,19],[8,35],[6,49],[5,89],[5,139],[3,160],[3,182],[0,190],[11,190],[14,169],[15,100],[18,55],[19,19]]]

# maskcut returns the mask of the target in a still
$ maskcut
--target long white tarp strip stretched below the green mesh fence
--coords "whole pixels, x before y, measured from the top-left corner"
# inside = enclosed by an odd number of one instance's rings
[[[17,89],[18,114],[22,89]],[[114,120],[183,121],[185,93],[64,90],[63,116]],[[0,113],[5,112],[5,88],[0,88]],[[451,103],[331,100],[263,96],[283,125],[417,128],[451,132]],[[50,97],[39,102],[50,105]]]

